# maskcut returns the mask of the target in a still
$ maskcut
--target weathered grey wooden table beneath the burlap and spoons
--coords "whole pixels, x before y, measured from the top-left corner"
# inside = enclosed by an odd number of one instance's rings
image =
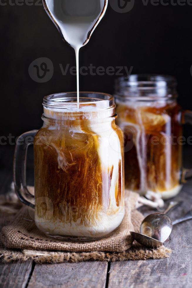
[[[190,148],[185,149],[185,164],[188,167],[192,163]],[[13,148],[0,149],[0,193],[5,193],[12,181],[12,156]],[[31,169],[30,165],[28,169]],[[171,212],[171,217],[179,217],[192,208],[191,187],[192,181],[183,186],[182,192],[175,198],[183,200],[183,205]],[[153,212],[144,207],[141,211],[144,214]],[[62,264],[0,262],[0,287],[192,287],[191,227],[192,222],[189,220],[173,228],[171,240],[166,244],[173,253],[166,259]]]

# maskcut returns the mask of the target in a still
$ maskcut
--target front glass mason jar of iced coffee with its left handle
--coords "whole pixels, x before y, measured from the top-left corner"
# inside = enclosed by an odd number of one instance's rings
[[[43,127],[18,138],[14,182],[34,205],[39,230],[67,240],[109,235],[124,217],[123,133],[111,95],[61,93],[43,99]],[[26,150],[33,136],[35,197],[26,186]]]

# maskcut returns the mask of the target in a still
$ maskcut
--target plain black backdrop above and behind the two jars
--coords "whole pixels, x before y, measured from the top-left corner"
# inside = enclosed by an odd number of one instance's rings
[[[43,96],[76,90],[76,76],[61,73],[59,63],[75,66],[75,53],[63,42],[41,2],[40,6],[18,6],[14,1],[2,0],[7,5],[0,5],[0,123],[1,135],[16,137],[41,127]],[[133,66],[132,73],[174,75],[178,102],[192,109],[191,19],[192,6],[188,4],[153,6],[149,2],[144,6],[142,1],[135,1],[127,13],[117,13],[109,4],[89,43],[80,50],[80,66]],[[39,57],[53,62],[54,74],[46,83],[33,81],[28,73],[30,63]],[[80,76],[80,90],[112,93],[114,77]],[[190,130],[184,130],[186,136]]]

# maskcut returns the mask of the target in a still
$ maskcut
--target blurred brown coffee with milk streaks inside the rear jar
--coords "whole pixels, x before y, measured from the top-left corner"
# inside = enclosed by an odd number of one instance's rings
[[[118,104],[117,124],[124,131],[125,186],[165,192],[179,185],[182,162],[180,106]]]

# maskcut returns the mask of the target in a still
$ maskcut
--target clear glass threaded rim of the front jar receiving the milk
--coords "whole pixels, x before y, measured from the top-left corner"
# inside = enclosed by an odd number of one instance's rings
[[[55,119],[93,119],[107,118],[114,115],[114,96],[100,92],[80,92],[80,102],[77,102],[77,92],[56,93],[43,98],[44,115]]]

